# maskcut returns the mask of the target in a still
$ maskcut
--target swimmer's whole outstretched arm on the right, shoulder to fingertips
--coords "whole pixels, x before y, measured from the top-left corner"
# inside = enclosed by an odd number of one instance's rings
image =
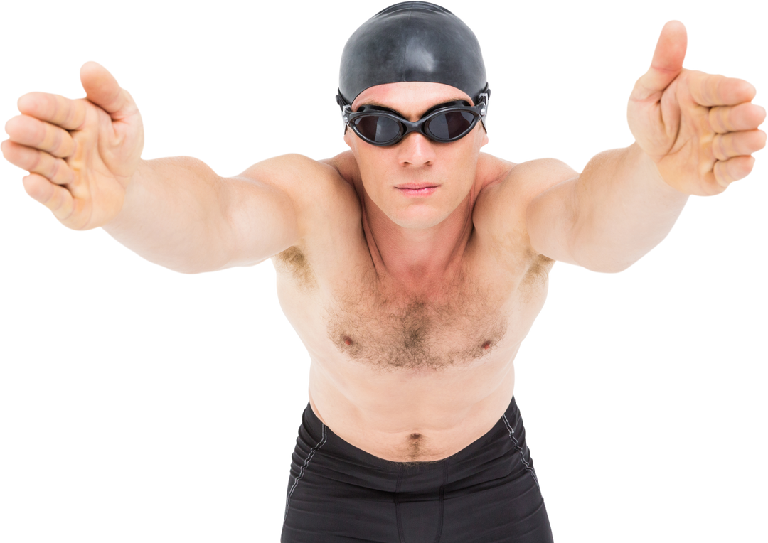
[[[768,110],[754,101],[752,82],[687,68],[689,46],[684,22],[664,22],[627,96],[632,143],[594,154],[576,179],[531,202],[534,248],[537,241],[561,247],[568,253],[562,259],[544,254],[591,273],[624,273],[664,243],[691,197],[722,196],[752,175],[754,155],[768,147],[760,128]],[[540,217],[561,201],[570,207],[568,227],[549,226]],[[562,243],[545,241],[549,236]]]

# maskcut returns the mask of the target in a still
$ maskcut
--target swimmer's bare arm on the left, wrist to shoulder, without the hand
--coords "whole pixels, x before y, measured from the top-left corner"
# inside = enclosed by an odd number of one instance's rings
[[[314,160],[281,154],[229,176],[193,154],[144,158],[101,230],[144,262],[183,276],[251,267],[300,237],[289,179]]]

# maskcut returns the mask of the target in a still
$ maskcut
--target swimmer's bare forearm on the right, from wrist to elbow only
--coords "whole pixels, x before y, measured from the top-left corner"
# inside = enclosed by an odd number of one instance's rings
[[[624,273],[656,250],[690,202],[636,144],[595,154],[574,188],[574,258],[601,275]]]

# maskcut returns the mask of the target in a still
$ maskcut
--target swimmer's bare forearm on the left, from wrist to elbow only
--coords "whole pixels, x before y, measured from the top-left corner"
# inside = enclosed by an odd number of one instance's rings
[[[217,269],[226,247],[221,181],[200,157],[147,157],[120,214],[101,231],[152,266],[194,276]]]

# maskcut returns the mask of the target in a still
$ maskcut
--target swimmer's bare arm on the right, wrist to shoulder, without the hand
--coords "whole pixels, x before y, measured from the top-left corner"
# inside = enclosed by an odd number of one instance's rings
[[[550,175],[570,177],[557,165]],[[618,275],[664,243],[689,201],[629,144],[599,151],[576,177],[533,198],[526,227],[537,253],[595,275]]]

